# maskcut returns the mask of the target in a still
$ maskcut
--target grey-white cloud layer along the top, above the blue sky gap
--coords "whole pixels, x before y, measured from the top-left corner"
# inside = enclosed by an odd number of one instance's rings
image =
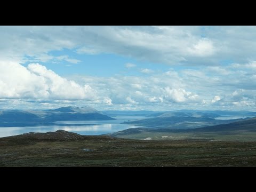
[[[49,61],[54,59],[50,51],[66,48],[167,65],[220,66],[227,60],[243,64],[256,60],[255,31],[255,26],[1,26],[0,57]]]

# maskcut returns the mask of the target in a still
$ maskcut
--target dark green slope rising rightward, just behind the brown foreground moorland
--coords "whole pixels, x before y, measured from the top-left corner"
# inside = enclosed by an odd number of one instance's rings
[[[134,128],[108,134],[111,137],[150,140],[256,141],[256,117],[196,129]]]

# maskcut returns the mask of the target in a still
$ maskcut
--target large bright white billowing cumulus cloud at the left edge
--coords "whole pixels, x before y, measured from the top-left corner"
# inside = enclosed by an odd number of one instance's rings
[[[93,100],[97,92],[89,85],[68,81],[38,63],[24,67],[17,62],[0,62],[0,98]]]

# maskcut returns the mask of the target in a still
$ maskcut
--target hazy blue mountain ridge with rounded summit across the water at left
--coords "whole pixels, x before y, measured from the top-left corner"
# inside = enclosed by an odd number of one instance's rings
[[[50,123],[55,121],[112,120],[91,107],[61,107],[50,110],[2,110],[0,123]]]

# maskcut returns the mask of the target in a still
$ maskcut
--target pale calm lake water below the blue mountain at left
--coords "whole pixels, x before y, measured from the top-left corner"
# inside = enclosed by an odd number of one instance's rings
[[[100,135],[106,133],[113,133],[125,129],[143,127],[135,125],[120,124],[132,119],[148,118],[144,116],[113,116],[116,120],[109,121],[61,121],[56,123],[70,124],[68,126],[53,125],[53,126],[25,126],[25,127],[0,127],[0,137],[7,137],[11,135],[18,135],[29,132],[49,132],[57,130],[65,130],[81,135]],[[74,126],[74,124],[86,124],[83,126]]]

